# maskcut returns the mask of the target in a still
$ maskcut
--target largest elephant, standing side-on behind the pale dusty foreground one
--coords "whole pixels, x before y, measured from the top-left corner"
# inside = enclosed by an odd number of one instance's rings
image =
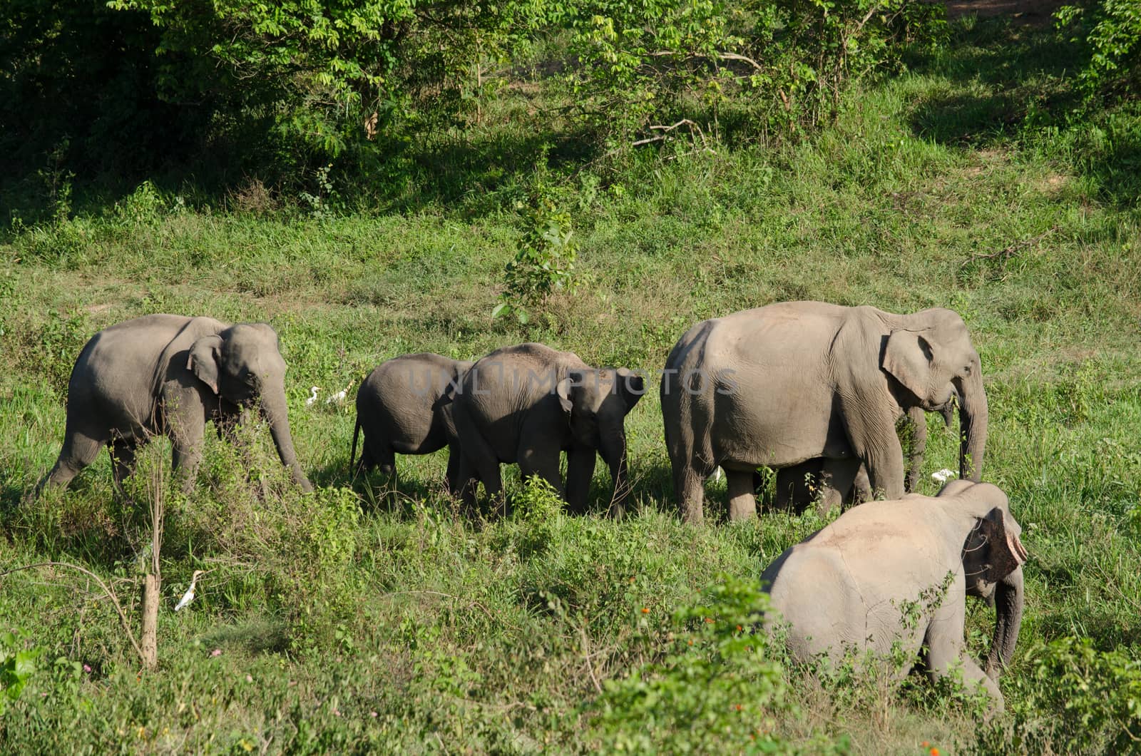
[[[941,410],[953,395],[961,400],[960,476],[977,481],[982,469],[982,370],[950,309],[896,315],[787,301],[706,320],[670,352],[661,394],[673,484],[693,523],[703,518],[703,483],[718,466],[730,520],[755,515],[758,467],[816,458],[827,460],[832,489],[847,491],[863,463],[869,486],[898,499],[897,419],[912,408]]]

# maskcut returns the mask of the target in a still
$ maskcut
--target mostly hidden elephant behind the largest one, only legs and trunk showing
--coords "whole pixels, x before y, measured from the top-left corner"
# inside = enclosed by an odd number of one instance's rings
[[[942,421],[950,427],[955,409],[954,400],[939,408]],[[923,459],[926,455],[926,412],[921,407],[912,407],[904,416],[903,425],[909,429],[911,444],[907,455],[907,471],[904,477],[904,491],[911,493],[919,485],[923,472]],[[900,424],[897,424],[897,427]],[[842,463],[841,463],[842,464]],[[801,514],[817,499],[817,492],[823,493],[822,510],[827,513],[834,506],[849,506],[871,501],[874,498],[872,483],[867,477],[867,466],[860,464],[856,478],[848,490],[836,489],[833,484],[842,468],[836,469],[833,460],[817,457],[776,471],[776,497],[772,506],[776,509]],[[754,478],[759,482],[758,478]],[[759,485],[754,485],[754,489]]]

